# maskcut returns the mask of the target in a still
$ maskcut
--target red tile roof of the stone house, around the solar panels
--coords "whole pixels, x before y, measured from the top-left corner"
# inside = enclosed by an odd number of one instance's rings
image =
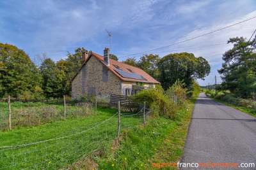
[[[94,57],[96,57],[102,64],[104,64],[106,67],[108,67],[108,69],[110,71],[112,71],[112,73],[114,73],[122,81],[137,81],[137,82],[143,82],[143,83],[157,83],[157,84],[159,83],[159,81],[152,78],[152,76],[148,75],[148,73],[146,73],[142,69],[139,69],[139,68],[134,67],[134,66],[130,66],[128,64],[125,64],[123,62],[119,62],[117,60],[109,59],[109,66],[107,66],[104,62],[104,57],[102,55],[99,55],[99,54],[94,53],[94,52],[90,53],[90,56],[88,56],[88,58],[83,62],[82,66],[78,69],[77,73],[73,76],[73,78],[70,80],[70,82],[72,82],[74,80],[74,78],[79,73],[81,68],[84,66],[84,64],[86,64],[86,62],[90,59],[90,57],[92,57],[92,55]],[[116,66],[119,66],[120,68],[123,69],[123,71],[125,71],[127,73],[131,73],[128,70],[128,69],[131,69],[135,74],[140,74],[141,76],[143,76],[147,80],[137,80],[137,79],[133,79],[133,78],[124,78],[124,77],[120,76],[120,74],[116,73],[116,71],[114,70],[114,69],[116,69],[116,67],[113,66],[113,64],[116,65]]]

